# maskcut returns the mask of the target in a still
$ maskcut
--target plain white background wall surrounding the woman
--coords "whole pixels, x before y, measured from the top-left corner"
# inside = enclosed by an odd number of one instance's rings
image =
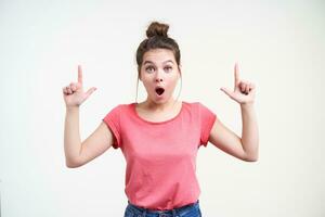
[[[220,88],[233,88],[236,61],[257,85],[260,158],[199,149],[204,216],[325,216],[324,11],[324,1],[1,0],[2,216],[123,215],[120,150],[65,166],[62,88],[78,64],[84,88],[98,88],[81,105],[83,140],[110,108],[134,101],[135,50],[151,21],[168,23],[179,42],[181,100],[200,101],[238,135],[239,106]]]

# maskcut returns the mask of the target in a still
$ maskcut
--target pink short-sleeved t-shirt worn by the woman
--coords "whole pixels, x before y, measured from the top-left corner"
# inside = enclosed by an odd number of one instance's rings
[[[153,123],[140,117],[135,105],[120,104],[103,118],[114,135],[114,149],[120,148],[126,157],[128,200],[161,210],[196,202],[196,155],[208,143],[216,114],[199,102],[182,102],[176,117]]]

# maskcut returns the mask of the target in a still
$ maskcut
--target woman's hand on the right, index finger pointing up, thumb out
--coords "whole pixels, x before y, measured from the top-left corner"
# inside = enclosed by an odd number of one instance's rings
[[[256,87],[252,82],[243,81],[239,79],[238,64],[235,64],[235,87],[234,91],[226,88],[221,88],[225,94],[235,100],[239,104],[252,104],[255,100]]]

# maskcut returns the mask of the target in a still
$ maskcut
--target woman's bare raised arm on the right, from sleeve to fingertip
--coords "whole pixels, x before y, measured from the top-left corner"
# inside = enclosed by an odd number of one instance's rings
[[[240,104],[243,130],[242,138],[226,128],[217,118],[209,141],[224,152],[246,162],[258,161],[259,132],[253,108],[256,88],[253,84],[239,80],[238,65],[235,64],[234,91],[221,88],[231,99]]]

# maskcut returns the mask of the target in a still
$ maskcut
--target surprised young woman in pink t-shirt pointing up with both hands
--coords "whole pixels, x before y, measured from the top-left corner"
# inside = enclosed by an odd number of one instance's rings
[[[258,159],[255,86],[239,79],[236,64],[234,91],[221,88],[240,105],[242,138],[202,103],[173,99],[173,90],[182,78],[181,54],[178,43],[167,34],[168,27],[153,22],[136,51],[138,82],[140,79],[144,85],[146,100],[115,106],[82,142],[79,106],[95,88],[83,91],[80,66],[78,82],[63,88],[66,165],[79,167],[110,146],[120,148],[127,161],[125,217],[202,216],[195,174],[202,144],[211,142],[242,161]]]

